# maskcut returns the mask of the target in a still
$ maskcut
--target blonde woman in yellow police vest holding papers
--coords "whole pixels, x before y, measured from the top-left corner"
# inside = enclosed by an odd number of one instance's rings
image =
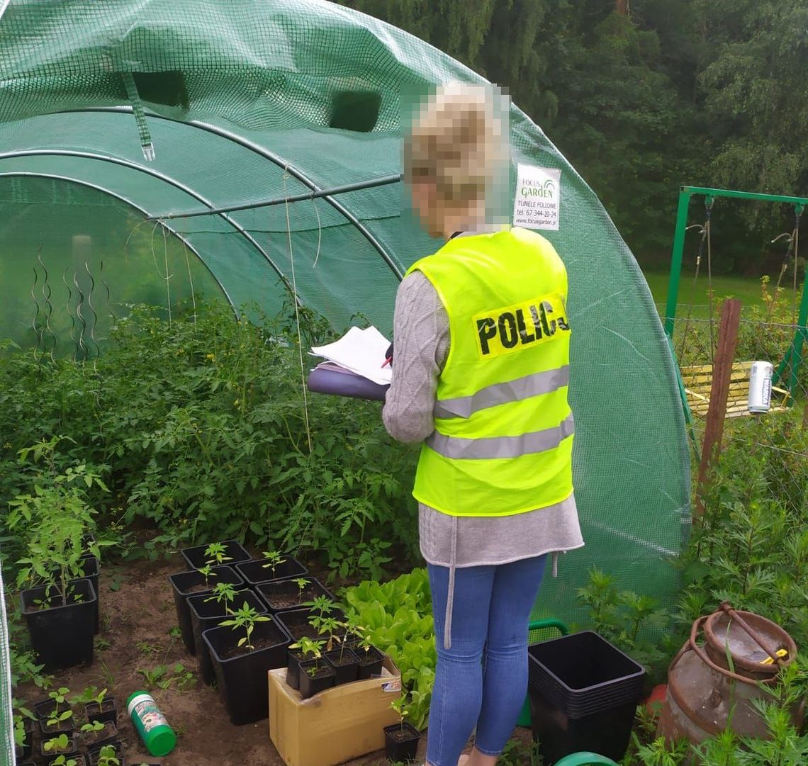
[[[438,654],[429,766],[494,766],[527,692],[546,555],[583,545],[566,271],[538,234],[483,230],[499,126],[482,88],[444,87],[406,141],[413,208],[447,240],[398,289],[383,410],[393,438],[423,441],[413,495]]]

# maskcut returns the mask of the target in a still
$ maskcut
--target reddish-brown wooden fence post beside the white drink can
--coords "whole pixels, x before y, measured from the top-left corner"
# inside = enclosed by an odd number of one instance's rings
[[[721,326],[718,328],[718,349],[713,364],[713,385],[709,392],[709,407],[705,440],[701,445],[701,463],[699,478],[696,484],[695,522],[703,516],[705,507],[703,492],[709,476],[709,469],[718,459],[721,452],[721,440],[724,436],[724,418],[726,417],[726,400],[730,394],[732,364],[735,358],[735,346],[738,343],[738,326],[741,318],[741,301],[730,298],[724,301],[721,309]]]

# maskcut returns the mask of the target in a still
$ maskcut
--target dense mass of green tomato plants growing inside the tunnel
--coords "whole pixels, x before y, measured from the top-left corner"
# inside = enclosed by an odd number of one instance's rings
[[[91,466],[109,491],[87,502],[143,530],[151,553],[234,537],[316,552],[343,577],[414,560],[417,450],[387,436],[379,404],[309,396],[307,418],[288,320],[236,322],[214,304],[196,322],[157,313],[117,322],[95,362],[0,357],[0,528],[43,481],[19,450],[61,436],[50,470]],[[304,319],[308,349],[329,330]]]

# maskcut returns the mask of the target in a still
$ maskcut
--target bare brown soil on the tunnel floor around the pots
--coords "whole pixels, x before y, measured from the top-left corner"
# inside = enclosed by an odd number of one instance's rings
[[[268,720],[233,726],[216,689],[200,677],[196,658],[187,654],[179,635],[172,637],[177,617],[168,576],[186,569],[179,553],[168,562],[137,562],[125,566],[101,566],[99,580],[100,632],[95,659],[90,666],[75,667],[55,676],[55,685],[67,686],[76,694],[89,685],[116,698],[119,705],[119,739],[127,764],[143,762],[162,766],[283,766],[283,760],[269,739]],[[113,581],[120,589],[113,591]],[[176,631],[175,631],[176,632]],[[152,671],[158,665],[173,668],[183,663],[196,678],[187,688],[149,685],[139,670]],[[169,672],[169,676],[170,676]],[[165,678],[166,676],[164,676]],[[157,701],[162,713],[178,734],[175,750],[164,758],[148,755],[126,713],[130,694],[144,689]],[[32,703],[46,697],[41,689],[22,686],[15,692]],[[76,708],[77,713],[81,713]],[[78,723],[83,723],[83,719]],[[424,740],[420,754],[423,757]],[[39,744],[36,744],[39,747]],[[360,764],[387,764],[384,751],[359,760]]]

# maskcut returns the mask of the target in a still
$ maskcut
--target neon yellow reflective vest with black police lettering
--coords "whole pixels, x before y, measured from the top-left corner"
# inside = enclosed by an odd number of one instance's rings
[[[413,495],[452,516],[511,516],[572,493],[566,269],[527,229],[456,237],[410,267],[440,296],[449,353]]]

